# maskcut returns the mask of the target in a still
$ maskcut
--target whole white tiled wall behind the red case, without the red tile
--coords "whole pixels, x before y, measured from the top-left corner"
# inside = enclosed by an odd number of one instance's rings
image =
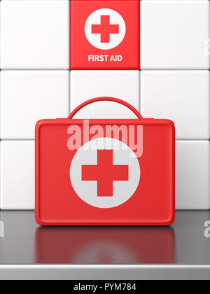
[[[209,209],[208,0],[141,0],[141,73],[69,72],[69,1],[1,0],[1,209],[34,209],[34,124],[125,99],[176,125],[176,208]],[[80,117],[131,117],[111,102]]]

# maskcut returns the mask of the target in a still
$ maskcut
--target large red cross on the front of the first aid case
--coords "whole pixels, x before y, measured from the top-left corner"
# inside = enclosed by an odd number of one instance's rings
[[[97,181],[97,196],[113,196],[113,181],[128,181],[128,165],[113,165],[113,150],[98,150],[97,165],[82,165],[82,181]]]

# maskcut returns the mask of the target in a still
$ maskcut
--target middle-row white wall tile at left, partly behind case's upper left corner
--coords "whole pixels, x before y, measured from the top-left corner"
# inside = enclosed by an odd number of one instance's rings
[[[69,115],[69,71],[1,71],[1,139],[34,139],[37,120]]]

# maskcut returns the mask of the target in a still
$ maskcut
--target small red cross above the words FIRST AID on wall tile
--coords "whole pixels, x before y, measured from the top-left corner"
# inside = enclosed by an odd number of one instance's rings
[[[92,34],[101,34],[101,43],[110,43],[110,34],[119,34],[119,25],[110,25],[110,15],[101,15],[101,25],[92,25]]]

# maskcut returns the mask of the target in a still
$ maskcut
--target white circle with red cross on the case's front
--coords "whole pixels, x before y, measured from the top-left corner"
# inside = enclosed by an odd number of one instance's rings
[[[78,197],[92,207],[117,207],[137,190],[139,160],[122,141],[93,139],[74,155],[70,180]]]

